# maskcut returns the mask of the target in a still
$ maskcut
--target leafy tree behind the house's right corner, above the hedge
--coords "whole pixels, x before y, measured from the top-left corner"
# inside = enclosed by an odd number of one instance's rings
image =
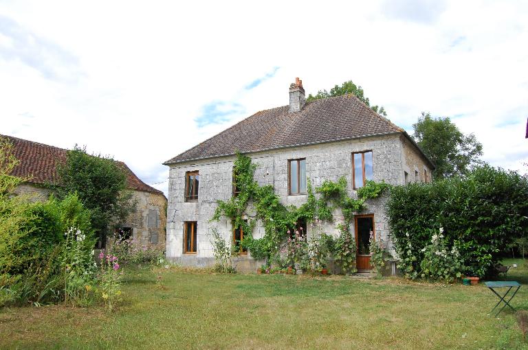
[[[432,118],[430,113],[421,113],[413,135],[421,150],[437,166],[434,178],[464,175],[482,163],[482,144],[475,135],[464,135],[448,118]]]

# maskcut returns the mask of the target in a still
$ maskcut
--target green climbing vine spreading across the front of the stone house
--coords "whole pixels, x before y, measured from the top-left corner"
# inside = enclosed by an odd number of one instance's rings
[[[314,220],[331,222],[332,211],[341,209],[344,216],[344,227],[349,230],[353,214],[365,208],[365,200],[376,198],[388,188],[388,184],[366,181],[364,187],[358,189],[358,198],[351,198],[347,194],[347,179],[342,177],[338,182],[325,180],[316,188],[316,197],[310,180],[307,183],[307,202],[300,207],[291,205],[285,207],[281,198],[275,193],[272,185],[259,186],[254,180],[256,164],[248,156],[236,155],[234,161],[233,185],[239,191],[229,200],[217,200],[218,207],[214,211],[212,221],[225,217],[232,220],[234,229],[241,227],[244,239],[241,244],[250,250],[255,259],[269,259],[278,255],[281,244],[287,240],[287,231],[294,229],[296,223],[303,220],[307,223]],[[252,205],[255,215],[248,221],[243,216],[248,214],[248,207]],[[248,215],[249,217],[250,215]],[[265,234],[260,239],[252,237],[256,220],[261,220]]]

